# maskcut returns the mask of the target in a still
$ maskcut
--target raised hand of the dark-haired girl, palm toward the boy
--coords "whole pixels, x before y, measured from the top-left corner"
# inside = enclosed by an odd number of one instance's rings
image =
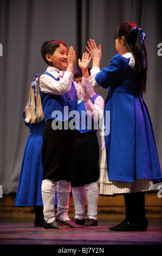
[[[93,66],[99,66],[100,64],[100,59],[101,59],[101,45],[99,45],[99,48],[96,47],[95,41],[92,39],[89,39],[89,42],[87,42],[88,47],[86,46],[86,49],[88,51],[88,53],[90,54],[90,56],[93,59]]]

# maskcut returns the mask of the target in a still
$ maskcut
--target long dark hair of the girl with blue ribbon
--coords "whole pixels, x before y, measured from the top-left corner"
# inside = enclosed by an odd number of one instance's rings
[[[124,45],[129,52],[133,54],[135,59],[134,73],[137,79],[138,89],[141,92],[146,92],[146,78],[147,78],[147,51],[144,44],[144,56],[146,66],[144,68],[143,58],[142,58],[142,45],[140,40],[140,31],[139,29],[134,29],[131,32],[131,29],[137,27],[135,23],[124,22],[122,23],[115,31],[114,40],[124,36],[125,42]]]

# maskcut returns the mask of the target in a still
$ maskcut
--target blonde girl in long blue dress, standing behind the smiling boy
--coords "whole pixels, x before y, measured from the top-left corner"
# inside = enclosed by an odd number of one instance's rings
[[[16,193],[16,206],[34,206],[35,227],[43,227],[43,202],[41,186],[43,167],[41,159],[44,114],[37,86],[38,75],[31,83],[28,105],[23,112],[24,123],[29,127],[30,135],[25,144],[20,178]],[[57,204],[57,198],[55,205]]]

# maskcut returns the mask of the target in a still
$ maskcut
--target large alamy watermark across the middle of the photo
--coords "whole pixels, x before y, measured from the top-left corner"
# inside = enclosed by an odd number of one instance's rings
[[[80,113],[76,110],[68,112],[68,107],[64,107],[64,112],[62,114],[61,111],[55,110],[51,114],[51,117],[54,118],[54,120],[51,123],[51,127],[53,130],[101,130],[100,135],[102,135],[102,132],[104,132],[104,135],[109,135],[110,132],[110,111],[105,112],[105,124],[103,125],[103,115],[98,113],[98,116],[95,112],[91,112],[90,115],[87,113],[87,111],[81,111],[81,117]],[[95,117],[95,118],[94,118]],[[64,127],[62,127],[62,121],[68,120],[69,118],[72,118],[69,120],[69,122],[64,122]],[[58,122],[61,121],[61,122]],[[80,121],[81,120],[81,121]],[[96,120],[96,121],[95,121]],[[99,120],[99,121],[98,121]]]

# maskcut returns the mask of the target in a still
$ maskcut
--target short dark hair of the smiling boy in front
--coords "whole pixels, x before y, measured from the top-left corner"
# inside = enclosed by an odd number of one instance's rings
[[[46,54],[52,55],[56,50],[56,48],[60,47],[60,44],[66,46],[66,43],[61,40],[50,40],[50,41],[43,42],[43,45],[41,46],[41,53],[44,61],[47,64],[48,64],[48,61],[46,59]]]

